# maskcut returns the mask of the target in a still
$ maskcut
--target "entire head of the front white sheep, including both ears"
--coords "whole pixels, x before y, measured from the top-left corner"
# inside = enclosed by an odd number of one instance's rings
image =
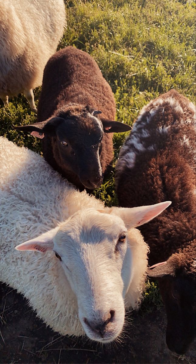
[[[80,210],[16,249],[43,253],[54,250],[77,297],[86,335],[107,343],[121,333],[124,325],[124,296],[133,271],[128,229],[148,222],[169,205],[161,202],[130,209]]]

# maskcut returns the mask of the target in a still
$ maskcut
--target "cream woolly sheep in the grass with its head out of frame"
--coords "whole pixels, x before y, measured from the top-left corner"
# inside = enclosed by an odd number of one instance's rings
[[[0,0],[0,98],[24,92],[36,111],[32,89],[56,51],[66,25],[63,0]]]

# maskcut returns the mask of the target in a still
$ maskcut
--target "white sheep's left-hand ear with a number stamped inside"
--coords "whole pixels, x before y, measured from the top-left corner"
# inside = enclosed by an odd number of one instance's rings
[[[47,233],[44,233],[38,236],[35,239],[31,239],[25,241],[24,243],[17,245],[15,247],[16,250],[38,250],[38,252],[46,253],[47,250],[52,250],[54,247],[53,239],[58,231],[59,226],[54,229],[49,230]]]

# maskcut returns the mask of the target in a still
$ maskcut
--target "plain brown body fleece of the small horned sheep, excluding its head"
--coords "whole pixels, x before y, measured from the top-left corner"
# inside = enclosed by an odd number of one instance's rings
[[[95,60],[86,52],[74,47],[66,47],[56,52],[48,60],[44,69],[42,92],[38,104],[38,122],[53,116],[62,116],[68,112],[78,117],[79,134],[80,127],[82,128],[82,125],[80,126],[81,112],[86,105],[90,105],[94,110],[101,110],[101,118],[115,120],[114,95]],[[112,137],[112,133],[103,134],[100,155],[103,173],[113,159]],[[70,171],[66,166],[66,160],[59,157],[56,135],[46,134],[42,139],[42,145],[46,161],[75,186],[84,188],[77,173]]]

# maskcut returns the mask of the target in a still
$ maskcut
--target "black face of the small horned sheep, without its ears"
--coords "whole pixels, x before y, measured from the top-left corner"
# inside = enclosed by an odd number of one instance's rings
[[[88,189],[99,187],[103,181],[100,162],[103,126],[89,112],[61,118],[52,140],[53,153],[59,156],[61,168],[74,171]]]

